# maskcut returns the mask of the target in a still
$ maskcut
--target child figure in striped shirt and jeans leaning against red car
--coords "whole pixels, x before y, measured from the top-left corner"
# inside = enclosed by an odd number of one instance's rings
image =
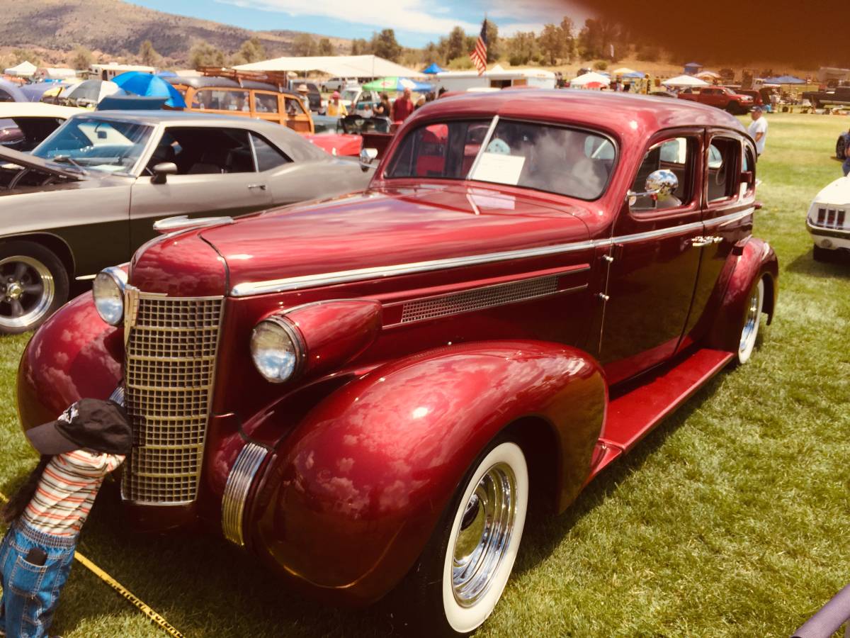
[[[10,527],[0,544],[0,635],[9,638],[48,635],[94,497],[133,444],[124,408],[96,399],[26,437],[42,458],[3,509]]]

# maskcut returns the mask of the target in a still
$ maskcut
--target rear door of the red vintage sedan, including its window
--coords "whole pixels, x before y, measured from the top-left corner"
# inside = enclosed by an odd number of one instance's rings
[[[756,152],[751,143],[733,131],[706,132],[706,171],[702,202],[703,236],[700,276],[694,289],[685,338],[680,350],[698,341],[711,328],[712,294],[723,293],[723,266],[735,245],[752,234],[756,204]]]

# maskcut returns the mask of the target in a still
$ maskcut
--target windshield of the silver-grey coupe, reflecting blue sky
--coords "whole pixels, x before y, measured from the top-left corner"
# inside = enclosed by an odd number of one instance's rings
[[[74,117],[36,147],[32,154],[109,173],[127,172],[139,161],[153,127],[133,122]]]

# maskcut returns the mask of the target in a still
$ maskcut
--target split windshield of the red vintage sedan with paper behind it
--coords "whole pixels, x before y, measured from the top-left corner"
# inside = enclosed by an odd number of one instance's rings
[[[614,168],[615,146],[602,134],[534,122],[446,122],[405,136],[387,178],[474,179],[596,199]]]

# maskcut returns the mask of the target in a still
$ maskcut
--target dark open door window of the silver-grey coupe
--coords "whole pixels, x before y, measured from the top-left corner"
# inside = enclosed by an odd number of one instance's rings
[[[168,128],[148,168],[174,162],[180,175],[252,173],[254,160],[248,132],[241,128]]]

